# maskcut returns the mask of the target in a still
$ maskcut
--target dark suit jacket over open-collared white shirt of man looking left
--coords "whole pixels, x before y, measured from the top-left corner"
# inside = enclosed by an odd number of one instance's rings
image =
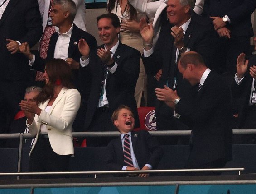
[[[77,62],[80,62],[80,57],[82,56],[78,49],[78,42],[79,42],[80,38],[83,38],[86,40],[90,49],[97,48],[97,42],[96,42],[95,37],[93,37],[88,32],[81,30],[75,24],[73,24],[73,30],[72,30],[72,34],[71,34],[70,42],[69,42],[69,46],[68,46],[68,58],[72,58],[73,60],[75,60]],[[44,60],[44,59],[40,58],[39,53],[38,53],[35,56],[36,60],[34,61],[34,64],[32,66],[33,69],[44,72],[45,62],[47,60],[54,58],[54,50],[55,50],[57,40],[58,40],[58,33],[55,32],[55,33],[53,33],[53,35],[50,38],[46,59]],[[83,85],[85,84],[84,78],[80,74],[79,70],[73,69],[72,72],[73,72],[73,77],[74,77],[74,85],[81,93],[81,96],[83,99],[86,96],[84,89],[82,89],[82,88],[84,88]]]

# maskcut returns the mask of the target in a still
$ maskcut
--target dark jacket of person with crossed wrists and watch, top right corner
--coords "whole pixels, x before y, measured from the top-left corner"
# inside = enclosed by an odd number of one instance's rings
[[[205,0],[203,15],[221,18],[227,15],[231,24],[226,27],[230,29],[231,36],[252,37],[251,14],[255,7],[255,0]]]

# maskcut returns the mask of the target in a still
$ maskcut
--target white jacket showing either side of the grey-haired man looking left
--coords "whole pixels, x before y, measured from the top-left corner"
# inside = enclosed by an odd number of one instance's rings
[[[81,28],[82,30],[86,31],[85,28],[85,3],[84,0],[73,0],[77,6],[77,14],[74,19],[74,23],[78,28]],[[43,19],[43,32],[47,25],[48,21],[48,12],[50,8],[50,2],[51,0],[38,0],[39,4],[39,10],[41,13],[41,17]],[[55,26],[56,32],[58,31],[58,27]]]

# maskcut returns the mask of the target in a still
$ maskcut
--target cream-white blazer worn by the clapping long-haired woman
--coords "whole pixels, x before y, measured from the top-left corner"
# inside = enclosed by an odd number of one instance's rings
[[[38,106],[42,109],[40,116],[35,115],[31,125],[27,123],[29,133],[36,135],[29,156],[37,143],[41,125],[46,125],[49,141],[55,153],[59,155],[74,154],[72,125],[80,107],[80,93],[76,89],[62,88],[53,102],[50,112],[47,113],[44,110],[49,101],[39,103]]]

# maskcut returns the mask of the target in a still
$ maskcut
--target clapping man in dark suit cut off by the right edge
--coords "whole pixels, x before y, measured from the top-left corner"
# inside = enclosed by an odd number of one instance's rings
[[[256,43],[256,37],[253,39]],[[256,46],[254,48],[256,50]],[[237,73],[231,85],[232,97],[241,100],[238,113],[238,129],[256,129],[256,56],[245,60],[241,53],[237,58]],[[237,143],[256,143],[255,135],[240,137]]]

